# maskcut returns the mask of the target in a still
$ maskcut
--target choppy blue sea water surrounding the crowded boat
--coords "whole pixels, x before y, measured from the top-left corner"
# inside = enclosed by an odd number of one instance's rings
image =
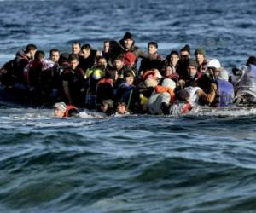
[[[226,68],[255,55],[249,1],[1,1],[0,65],[27,43],[102,49],[130,31],[167,55],[189,44]],[[0,107],[0,212],[254,212],[255,110],[104,117]]]

